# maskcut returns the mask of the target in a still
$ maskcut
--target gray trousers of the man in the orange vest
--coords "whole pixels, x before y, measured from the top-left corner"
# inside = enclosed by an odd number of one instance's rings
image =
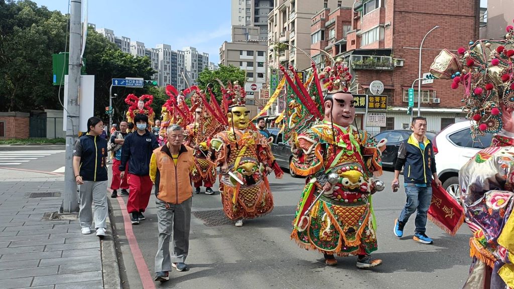
[[[171,271],[171,262],[185,262],[189,251],[192,197],[180,204],[169,204],[155,199],[159,247],[155,255],[155,273]],[[173,236],[173,257],[170,239]]]

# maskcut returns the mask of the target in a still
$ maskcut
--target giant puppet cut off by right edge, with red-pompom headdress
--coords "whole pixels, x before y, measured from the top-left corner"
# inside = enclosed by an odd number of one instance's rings
[[[431,73],[464,87],[470,137],[493,134],[490,147],[459,172],[461,201],[473,236],[466,289],[514,288],[514,28],[505,40],[471,41],[457,55],[444,49]]]

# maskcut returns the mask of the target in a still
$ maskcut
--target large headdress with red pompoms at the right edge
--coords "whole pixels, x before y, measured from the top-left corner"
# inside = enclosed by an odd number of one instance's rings
[[[463,111],[471,120],[474,135],[503,129],[500,105],[514,108],[514,27],[506,28],[505,40],[478,40],[457,54],[444,49],[430,72],[437,78],[453,79],[451,88],[464,86]]]

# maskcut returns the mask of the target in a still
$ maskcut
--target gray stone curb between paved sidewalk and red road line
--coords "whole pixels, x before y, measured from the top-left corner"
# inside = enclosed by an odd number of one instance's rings
[[[111,222],[111,218],[114,218],[113,206],[111,200],[107,197],[107,204],[109,208],[109,218],[107,218],[107,228],[111,230],[111,233],[107,231],[107,236],[100,242],[101,247],[101,258],[102,258],[102,279],[104,289],[120,289],[121,288],[121,277],[120,269],[118,264],[118,257],[116,256],[116,244],[114,242],[114,226]]]

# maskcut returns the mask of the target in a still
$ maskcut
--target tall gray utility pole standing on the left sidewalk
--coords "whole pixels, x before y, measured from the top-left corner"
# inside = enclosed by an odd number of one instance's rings
[[[66,167],[64,171],[64,213],[79,211],[77,203],[77,183],[73,171],[73,150],[79,134],[80,110],[80,51],[82,38],[82,0],[72,0],[69,25],[69,66],[68,66],[68,103],[66,110]]]

